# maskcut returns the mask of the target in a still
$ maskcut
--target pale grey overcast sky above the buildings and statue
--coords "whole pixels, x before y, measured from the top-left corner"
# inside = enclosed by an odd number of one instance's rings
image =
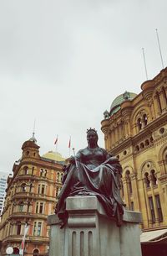
[[[12,172],[22,144],[68,157],[86,129],[124,91],[140,92],[167,63],[166,0],[0,0],[0,170]],[[72,153],[72,152],[71,152]]]

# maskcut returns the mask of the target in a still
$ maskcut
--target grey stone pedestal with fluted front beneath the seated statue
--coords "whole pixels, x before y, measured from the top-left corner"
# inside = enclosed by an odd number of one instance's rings
[[[96,196],[67,199],[68,223],[60,229],[58,217],[48,217],[51,226],[49,256],[141,256],[140,212],[124,211],[117,227]]]

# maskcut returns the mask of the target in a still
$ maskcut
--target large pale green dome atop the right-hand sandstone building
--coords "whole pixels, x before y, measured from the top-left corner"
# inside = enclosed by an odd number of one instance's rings
[[[134,97],[136,97],[137,94],[134,92],[129,92],[129,91],[125,91],[123,94],[120,94],[118,97],[116,97],[114,99],[114,101],[111,104],[110,107],[110,115],[113,115],[114,112],[119,111],[120,109],[120,105],[122,102],[127,101],[127,100],[133,100]]]

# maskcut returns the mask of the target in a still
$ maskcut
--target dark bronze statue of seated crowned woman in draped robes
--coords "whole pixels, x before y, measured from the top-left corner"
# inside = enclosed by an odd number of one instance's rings
[[[71,156],[69,165],[64,166],[63,187],[55,212],[65,223],[68,218],[65,210],[68,196],[97,196],[108,217],[115,217],[120,226],[124,201],[119,194],[122,173],[119,159],[99,148],[98,133],[93,128],[87,130],[87,140],[88,146],[79,150],[75,157]]]

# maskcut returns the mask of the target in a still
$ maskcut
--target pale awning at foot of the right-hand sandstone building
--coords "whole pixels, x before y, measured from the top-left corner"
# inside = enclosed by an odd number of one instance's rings
[[[167,229],[159,229],[154,231],[142,232],[140,235],[140,243],[155,243],[167,238]]]

